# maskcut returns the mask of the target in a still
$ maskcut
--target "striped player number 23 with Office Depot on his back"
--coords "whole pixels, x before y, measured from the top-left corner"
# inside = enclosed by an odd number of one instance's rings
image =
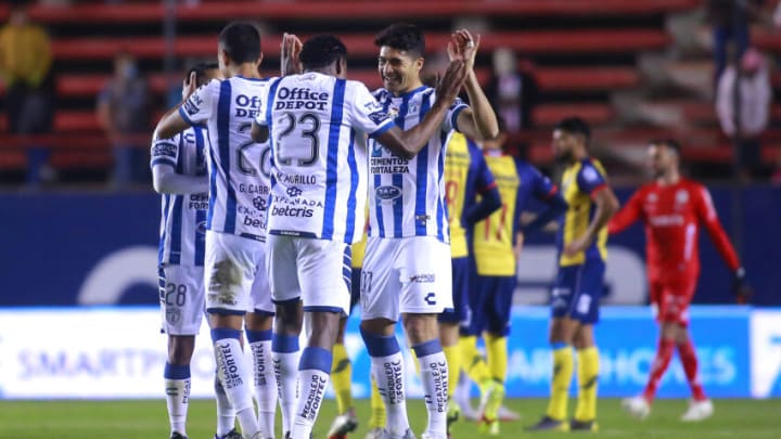
[[[304,73],[271,86],[261,126],[270,130],[274,164],[267,267],[277,304],[277,331],[297,336],[299,304],[311,334],[298,363],[300,396],[290,437],[308,439],[331,373],[340,319],[349,312],[350,244],[362,234],[367,191],[363,137],[411,158],[435,134],[461,89],[463,61],[451,63],[433,105],[401,131],[360,82],[348,81],[347,50],[319,35],[300,51]],[[282,317],[282,321],[280,321]]]

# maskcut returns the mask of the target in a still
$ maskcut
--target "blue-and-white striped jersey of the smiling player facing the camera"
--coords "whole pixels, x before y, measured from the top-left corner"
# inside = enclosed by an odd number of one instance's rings
[[[379,89],[374,96],[396,125],[408,130],[423,120],[436,96],[420,87],[399,96]],[[445,203],[445,147],[457,127],[460,100],[450,106],[441,129],[412,159],[396,156],[377,141],[369,142],[369,236],[435,236],[449,242]]]

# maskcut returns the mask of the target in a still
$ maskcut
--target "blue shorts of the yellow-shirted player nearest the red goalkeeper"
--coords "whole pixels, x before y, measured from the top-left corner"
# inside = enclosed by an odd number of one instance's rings
[[[551,293],[551,315],[582,324],[599,322],[599,302],[604,289],[605,263],[589,259],[579,266],[560,267]]]

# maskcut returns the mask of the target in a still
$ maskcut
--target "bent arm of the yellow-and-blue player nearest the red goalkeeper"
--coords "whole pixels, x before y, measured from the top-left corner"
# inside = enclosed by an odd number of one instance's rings
[[[588,229],[586,229],[586,233],[564,248],[564,254],[569,256],[588,248],[588,246],[594,242],[597,235],[599,235],[600,230],[607,225],[607,221],[610,221],[611,217],[613,217],[620,207],[618,198],[616,198],[607,181],[593,166],[588,165],[585,167],[578,173],[577,180],[580,190],[591,196],[597,208]]]

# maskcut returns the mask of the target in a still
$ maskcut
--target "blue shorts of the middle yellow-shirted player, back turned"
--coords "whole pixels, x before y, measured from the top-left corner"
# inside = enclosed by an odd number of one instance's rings
[[[470,318],[461,326],[461,335],[479,336],[484,331],[507,336],[510,334],[510,311],[517,280],[515,276],[475,275],[470,296]]]

